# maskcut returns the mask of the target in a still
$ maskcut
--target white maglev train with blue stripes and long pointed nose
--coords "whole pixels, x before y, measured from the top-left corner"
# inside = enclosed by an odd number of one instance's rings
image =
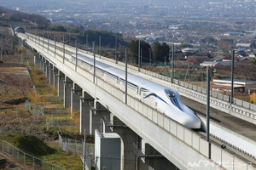
[[[76,54],[73,54],[71,60],[75,62],[75,59]],[[94,65],[93,59],[84,55],[77,54],[77,59],[82,62],[82,65]],[[102,78],[106,82],[125,91],[125,71],[99,61],[96,61],[96,70],[103,71]],[[127,89],[131,96],[135,96],[143,103],[171,117],[183,126],[192,129],[201,128],[201,120],[194,111],[183,104],[177,91],[130,73],[127,75]]]

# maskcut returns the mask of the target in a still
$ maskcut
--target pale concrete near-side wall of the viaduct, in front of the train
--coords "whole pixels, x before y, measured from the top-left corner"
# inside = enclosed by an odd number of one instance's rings
[[[63,51],[52,46],[45,48],[24,34],[18,33],[17,36],[26,40],[28,46],[37,50],[45,61],[53,65],[53,70],[61,71],[83,91],[98,99],[145,143],[152,145],[179,169],[255,169],[253,162],[247,163],[244,157],[221,148],[220,144],[213,141],[209,145],[200,133],[183,127],[129,94],[125,105],[124,92],[111,85],[111,82],[105,82],[101,71],[96,71],[96,79],[93,80],[90,66],[73,63],[63,58]],[[212,150],[211,159],[208,158],[209,147]]]

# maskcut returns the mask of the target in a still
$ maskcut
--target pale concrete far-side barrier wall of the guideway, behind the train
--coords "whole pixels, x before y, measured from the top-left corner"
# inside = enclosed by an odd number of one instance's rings
[[[54,48],[56,45],[56,49],[60,50],[60,52],[63,53],[63,44],[60,42],[54,42],[43,37],[37,37],[35,35],[26,33],[26,36],[28,38],[31,38],[34,42],[38,42],[41,44],[44,48],[48,48],[48,42],[49,46]],[[75,54],[76,48],[73,48],[71,46],[65,45],[65,53]],[[82,49],[78,49],[79,54],[83,54],[87,57],[93,58],[93,54],[91,54],[88,51],[84,51]],[[116,68],[123,69],[125,68],[125,64],[122,62],[117,62],[113,59],[108,59],[106,57],[96,55],[97,60],[102,61],[108,65],[112,65]],[[136,74],[138,77],[143,77],[145,79],[148,79],[152,82],[159,83],[160,85],[166,86],[167,88],[176,89],[180,95],[183,95],[186,98],[196,100],[197,102],[206,105],[207,100],[207,90],[206,88],[197,87],[195,85],[189,84],[187,82],[182,82],[177,79],[174,79],[173,83],[171,83],[171,77],[165,77],[158,73],[152,72],[152,71],[146,71],[143,69],[140,69],[140,71],[137,71],[137,67],[133,65],[128,65],[128,70],[130,73]],[[242,120],[245,120],[247,122],[251,122],[253,124],[256,124],[256,105],[253,105],[249,102],[242,101],[241,99],[233,99],[234,103],[230,104],[230,96],[224,95],[224,94],[218,94],[216,92],[211,91],[211,107],[214,109],[217,109],[219,111],[223,111],[227,114],[230,114],[232,116],[236,116]]]

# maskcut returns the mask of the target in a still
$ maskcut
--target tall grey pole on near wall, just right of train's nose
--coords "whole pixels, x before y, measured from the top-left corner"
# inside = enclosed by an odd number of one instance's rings
[[[211,143],[210,143],[210,67],[207,66],[207,142],[209,144],[208,158],[211,159]]]

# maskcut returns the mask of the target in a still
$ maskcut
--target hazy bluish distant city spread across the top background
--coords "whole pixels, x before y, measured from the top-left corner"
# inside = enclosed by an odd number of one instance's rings
[[[0,0],[2,2],[3,0]],[[11,0],[7,8],[41,14],[56,24],[122,33],[147,41],[198,43],[236,32],[236,42],[256,35],[256,1],[43,1]],[[15,4],[15,5],[14,5]]]

